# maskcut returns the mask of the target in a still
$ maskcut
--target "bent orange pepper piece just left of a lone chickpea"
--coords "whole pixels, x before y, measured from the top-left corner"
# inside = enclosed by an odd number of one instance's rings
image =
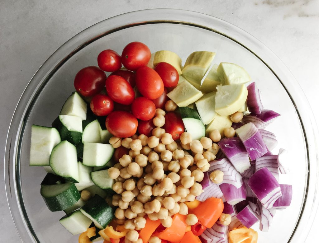
[[[185,223],[186,215],[176,213],[173,216],[172,226],[166,228],[162,232],[156,234],[159,239],[166,239],[168,241],[174,242],[181,240],[186,232],[187,224]]]

